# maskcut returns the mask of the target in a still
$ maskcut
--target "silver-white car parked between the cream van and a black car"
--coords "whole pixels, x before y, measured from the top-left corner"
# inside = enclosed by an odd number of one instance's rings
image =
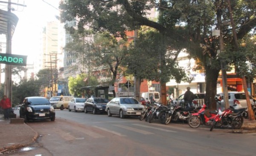
[[[84,111],[84,102],[86,99],[84,98],[73,98],[70,102],[68,102],[68,111],[74,110],[77,111]]]

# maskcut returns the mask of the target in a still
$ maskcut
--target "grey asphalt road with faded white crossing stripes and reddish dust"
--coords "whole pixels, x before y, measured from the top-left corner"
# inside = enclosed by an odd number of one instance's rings
[[[136,117],[56,110],[55,122],[29,122],[39,135],[18,156],[255,156],[256,136],[186,123],[162,125]]]

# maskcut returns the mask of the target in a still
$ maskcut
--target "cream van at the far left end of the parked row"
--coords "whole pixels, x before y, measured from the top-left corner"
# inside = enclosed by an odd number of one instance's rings
[[[73,96],[52,96],[49,100],[54,108],[68,109],[68,102],[73,99]]]

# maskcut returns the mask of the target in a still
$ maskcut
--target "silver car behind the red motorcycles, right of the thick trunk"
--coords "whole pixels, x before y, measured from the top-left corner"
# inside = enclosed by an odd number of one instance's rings
[[[224,94],[219,93],[216,96],[220,95],[221,96],[221,109],[225,108],[225,103],[224,103]],[[240,109],[240,108],[247,108],[247,102],[246,102],[246,96],[244,92],[238,92],[238,91],[231,91],[228,92],[228,102],[229,105],[232,106],[234,109]],[[250,103],[253,105],[253,97],[250,96]],[[219,108],[220,105],[217,104],[217,108]]]

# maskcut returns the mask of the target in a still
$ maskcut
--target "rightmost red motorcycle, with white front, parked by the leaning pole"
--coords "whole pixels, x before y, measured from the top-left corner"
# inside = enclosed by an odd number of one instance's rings
[[[221,97],[217,98],[217,102],[220,103]],[[228,108],[224,111],[221,111],[221,108],[218,110],[218,114],[215,116],[214,121],[212,122],[210,131],[212,131],[216,124],[220,124],[222,128],[233,128],[240,129],[244,123],[243,113],[246,109],[235,110]]]

